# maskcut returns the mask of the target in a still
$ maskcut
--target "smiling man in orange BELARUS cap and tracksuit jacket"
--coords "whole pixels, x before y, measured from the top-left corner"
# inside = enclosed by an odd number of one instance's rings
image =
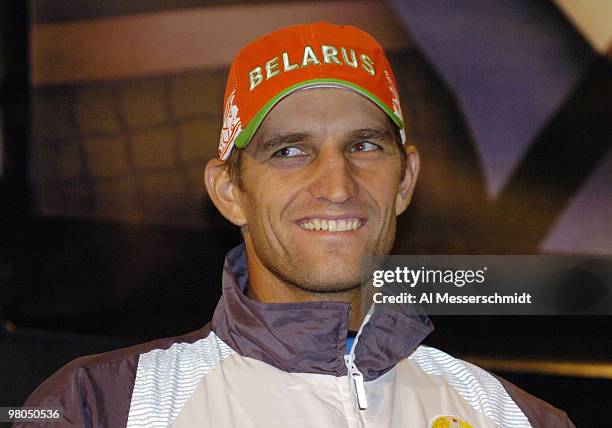
[[[420,346],[412,307],[372,305],[419,171],[382,48],[354,27],[285,28],[244,48],[205,181],[244,245],[213,320],[78,359],[28,406],[65,426],[563,427],[567,416]],[[351,332],[356,331],[351,338]]]

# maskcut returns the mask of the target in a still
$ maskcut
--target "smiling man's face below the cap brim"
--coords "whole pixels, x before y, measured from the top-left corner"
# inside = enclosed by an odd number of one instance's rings
[[[236,192],[249,263],[256,257],[304,290],[343,291],[391,250],[405,208],[400,149],[390,119],[363,96],[337,88],[289,95],[241,155]]]

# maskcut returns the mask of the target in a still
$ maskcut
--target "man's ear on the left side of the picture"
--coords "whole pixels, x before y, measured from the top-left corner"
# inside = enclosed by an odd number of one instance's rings
[[[204,170],[204,183],[208,196],[223,217],[236,226],[244,226],[246,219],[237,198],[240,190],[232,183],[225,162],[209,160]]]

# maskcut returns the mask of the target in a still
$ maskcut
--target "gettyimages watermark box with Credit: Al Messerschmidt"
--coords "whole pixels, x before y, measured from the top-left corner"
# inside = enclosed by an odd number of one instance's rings
[[[370,274],[376,304],[431,315],[612,314],[612,258],[389,256]]]

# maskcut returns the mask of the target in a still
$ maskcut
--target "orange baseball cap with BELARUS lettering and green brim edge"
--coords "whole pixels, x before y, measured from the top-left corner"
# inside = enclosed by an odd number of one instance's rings
[[[280,100],[312,87],[363,95],[400,128],[405,142],[397,84],[383,48],[359,28],[317,22],[274,31],[238,53],[225,89],[219,157],[246,147]]]

